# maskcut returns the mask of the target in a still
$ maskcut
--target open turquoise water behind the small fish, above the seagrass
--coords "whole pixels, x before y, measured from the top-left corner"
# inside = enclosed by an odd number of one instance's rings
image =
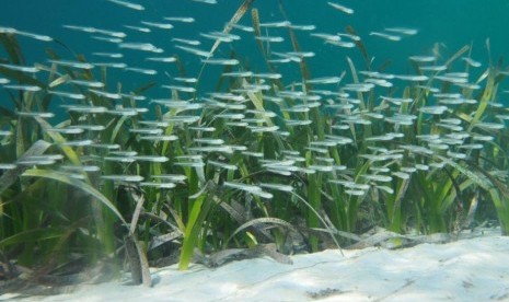
[[[20,38],[27,61],[44,61],[45,48],[55,49],[63,59],[74,59],[74,54],[83,54],[90,61],[101,61],[92,56],[94,51],[122,53],[125,57],[123,62],[140,68],[157,69],[154,77],[109,71],[111,83],[123,82],[123,86],[135,89],[150,81],[169,84],[167,76],[177,76],[174,65],[161,65],[144,61],[147,53],[136,50],[118,49],[113,43],[96,40],[90,34],[71,31],[62,27],[63,24],[93,26],[112,31],[120,31],[127,34],[125,42],[150,42],[164,49],[164,54],[172,56],[178,54],[183,60],[187,76],[196,77],[201,65],[196,56],[185,54],[173,47],[172,37],[196,38],[203,42],[200,49],[207,49],[211,40],[199,36],[199,33],[221,31],[228,20],[233,15],[242,1],[218,0],[217,4],[206,4],[190,0],[138,0],[144,11],[131,10],[106,0],[18,0],[3,1],[0,10],[0,26],[15,27],[16,30],[45,34],[54,37],[61,44],[42,43],[30,38]],[[439,46],[440,55],[448,58],[464,45],[472,45],[472,57],[484,66],[487,65],[488,54],[486,39],[489,38],[491,57],[507,57],[509,54],[509,40],[507,39],[507,25],[509,13],[509,1],[491,0],[358,0],[340,1],[342,4],[355,10],[349,15],[333,9],[327,1],[292,0],[281,1],[286,13],[293,24],[313,24],[314,32],[337,33],[345,32],[346,25],[351,25],[361,36],[369,55],[374,58],[373,67],[382,66],[386,60],[392,65],[387,72],[406,72],[409,69],[408,56],[431,55],[433,47]],[[276,0],[254,1],[261,21],[282,21],[280,8]],[[194,23],[175,23],[172,30],[152,28],[150,34],[138,33],[123,25],[138,25],[140,21],[164,22],[164,16],[193,16]],[[166,21],[167,23],[167,21]],[[251,25],[251,13],[241,20],[241,24]],[[419,31],[415,36],[405,37],[401,42],[391,42],[380,37],[370,36],[370,32],[382,31],[384,27],[412,27]],[[284,43],[273,44],[270,47],[277,51],[291,50],[288,34],[284,30],[270,31],[270,34],[280,34],[286,38]],[[261,53],[254,42],[252,34],[240,33],[242,39],[232,44],[223,44],[219,55],[228,56],[230,49],[234,49],[238,56],[250,63],[251,69],[259,72],[266,71],[262,63]],[[338,48],[324,45],[322,40],[309,36],[309,32],[299,32],[298,39],[303,51],[314,51],[315,57],[310,58],[308,63],[312,77],[338,76],[347,68],[345,57],[355,59],[359,68],[362,61],[356,48]],[[153,54],[152,54],[153,55]],[[104,61],[104,59],[102,59]],[[285,70],[285,67],[281,67]],[[296,68],[293,68],[298,71]],[[213,90],[218,76],[222,69],[210,67],[206,70],[203,91]],[[167,73],[167,76],[165,74]],[[291,70],[287,72],[287,83],[292,80]],[[150,91],[154,96],[164,95],[164,90],[154,89]]]

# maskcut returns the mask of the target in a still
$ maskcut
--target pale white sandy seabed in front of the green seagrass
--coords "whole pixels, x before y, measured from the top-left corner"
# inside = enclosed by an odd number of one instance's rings
[[[509,236],[369,247],[152,270],[153,288],[107,282],[37,301],[509,301]],[[0,298],[1,298],[0,293]],[[4,297],[5,298],[5,297]],[[1,299],[0,299],[1,300]]]

